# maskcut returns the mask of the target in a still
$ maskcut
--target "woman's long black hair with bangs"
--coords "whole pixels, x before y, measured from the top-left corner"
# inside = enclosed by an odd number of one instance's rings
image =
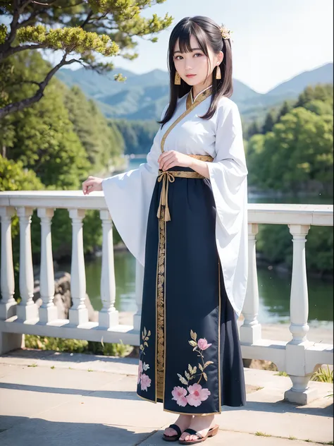
[[[175,25],[175,28],[173,28],[171,32],[171,37],[169,38],[168,71],[170,76],[170,101],[165,116],[163,116],[161,121],[158,121],[162,126],[173,116],[178,98],[183,97],[190,92],[190,89],[192,88],[191,85],[185,83],[183,79],[181,79],[180,85],[175,85],[176,70],[173,58],[174,48],[177,41],[179,42],[181,52],[192,51],[190,45],[190,37],[192,35],[196,38],[199,47],[202,49],[202,52],[204,52],[206,57],[209,57],[208,45],[215,54],[218,54],[221,51],[224,54],[223,61],[220,64],[221,79],[216,79],[217,67],[215,67],[212,73],[211,103],[206,114],[200,117],[202,119],[210,119],[214,116],[218,101],[221,97],[230,97],[233,93],[232,51],[230,39],[223,39],[221,35],[221,27],[209,17],[185,17]]]

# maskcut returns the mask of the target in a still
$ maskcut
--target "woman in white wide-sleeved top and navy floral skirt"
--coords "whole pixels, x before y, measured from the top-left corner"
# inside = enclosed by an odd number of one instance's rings
[[[184,18],[168,49],[171,98],[139,169],[82,183],[104,191],[144,265],[137,394],[179,414],[163,439],[216,435],[221,406],[245,405],[237,318],[247,285],[247,167],[230,31]],[[146,234],[146,238],[145,235]]]

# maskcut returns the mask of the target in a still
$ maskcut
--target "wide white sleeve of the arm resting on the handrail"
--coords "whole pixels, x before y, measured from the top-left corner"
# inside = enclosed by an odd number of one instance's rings
[[[154,137],[147,162],[102,180],[106,205],[123,242],[144,265],[147,217],[151,196],[159,174],[160,131]]]

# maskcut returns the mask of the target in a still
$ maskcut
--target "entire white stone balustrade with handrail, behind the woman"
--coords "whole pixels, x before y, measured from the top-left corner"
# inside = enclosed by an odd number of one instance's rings
[[[73,306],[68,320],[58,319],[54,306],[54,269],[51,242],[51,219],[54,209],[67,209],[72,219],[72,259],[70,289]],[[38,309],[33,297],[30,223],[34,209],[41,222],[40,295]],[[85,307],[85,260],[82,243],[82,219],[85,210],[99,210],[102,224],[102,269],[99,322],[88,321]],[[13,299],[14,271],[11,244],[11,217],[20,220],[20,303]],[[133,325],[120,325],[114,306],[116,296],[113,265],[112,220],[103,193],[82,191],[19,191],[0,193],[1,218],[1,296],[0,354],[21,346],[24,334],[87,339],[91,341],[140,344],[143,268],[136,266],[137,313]],[[259,224],[285,224],[292,234],[293,262],[290,290],[290,342],[262,339],[259,311],[259,287],[256,272],[256,234]],[[309,332],[307,269],[305,242],[312,225],[333,226],[333,205],[249,204],[249,281],[240,327],[243,358],[273,361],[292,380],[285,399],[307,404],[316,397],[308,386],[311,374],[322,363],[333,364],[333,345],[316,344],[307,339]]]

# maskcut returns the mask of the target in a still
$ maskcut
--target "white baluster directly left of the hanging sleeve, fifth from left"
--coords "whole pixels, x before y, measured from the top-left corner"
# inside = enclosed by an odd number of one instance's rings
[[[113,261],[113,224],[109,211],[101,210],[102,220],[102,270],[99,327],[111,328],[118,325],[118,311],[115,308],[116,282]]]

